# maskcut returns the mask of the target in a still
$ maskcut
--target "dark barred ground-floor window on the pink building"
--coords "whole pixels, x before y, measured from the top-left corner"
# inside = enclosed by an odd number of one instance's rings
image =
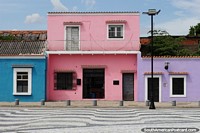
[[[73,72],[55,72],[55,85],[56,90],[72,90],[76,87],[76,73]]]

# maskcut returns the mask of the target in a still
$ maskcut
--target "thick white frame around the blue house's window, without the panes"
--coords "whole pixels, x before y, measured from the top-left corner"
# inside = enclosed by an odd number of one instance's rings
[[[28,92],[17,92],[17,72],[28,72]],[[32,94],[32,68],[13,68],[13,95]]]

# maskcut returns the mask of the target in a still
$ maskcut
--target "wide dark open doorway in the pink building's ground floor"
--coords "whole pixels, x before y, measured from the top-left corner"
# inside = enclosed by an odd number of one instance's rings
[[[104,69],[83,69],[83,98],[104,98],[104,83]]]

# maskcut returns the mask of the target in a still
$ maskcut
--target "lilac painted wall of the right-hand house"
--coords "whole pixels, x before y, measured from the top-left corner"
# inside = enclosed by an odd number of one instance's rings
[[[165,70],[165,62],[169,62],[169,69]],[[138,60],[138,101],[145,101],[145,72],[151,72],[151,59]],[[199,101],[200,100],[200,59],[195,57],[183,58],[154,58],[154,72],[162,72],[161,102],[166,101]],[[187,72],[186,97],[170,97],[170,72]]]

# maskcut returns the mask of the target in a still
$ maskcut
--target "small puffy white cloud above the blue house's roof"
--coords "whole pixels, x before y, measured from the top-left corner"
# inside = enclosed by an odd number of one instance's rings
[[[26,24],[33,24],[33,23],[41,23],[43,21],[43,17],[40,16],[38,13],[33,13],[32,15],[26,16],[25,23]]]

